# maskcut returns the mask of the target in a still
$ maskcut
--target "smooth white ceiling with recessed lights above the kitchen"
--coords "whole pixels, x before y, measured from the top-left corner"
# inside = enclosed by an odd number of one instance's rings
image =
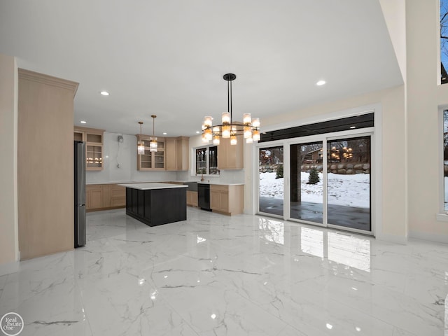
[[[229,72],[234,120],[402,83],[378,0],[0,0],[0,52],[80,83],[75,125],[123,134],[156,114],[156,135],[195,135]]]

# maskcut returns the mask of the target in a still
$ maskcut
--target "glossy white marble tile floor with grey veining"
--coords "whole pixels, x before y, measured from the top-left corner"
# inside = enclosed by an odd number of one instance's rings
[[[448,245],[188,208],[87,214],[87,245],[0,276],[22,335],[448,335]]]

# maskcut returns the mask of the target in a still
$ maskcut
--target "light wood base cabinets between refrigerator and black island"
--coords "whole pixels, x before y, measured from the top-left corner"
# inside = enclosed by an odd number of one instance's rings
[[[85,209],[97,211],[124,208],[126,188],[117,184],[89,184],[85,186]]]

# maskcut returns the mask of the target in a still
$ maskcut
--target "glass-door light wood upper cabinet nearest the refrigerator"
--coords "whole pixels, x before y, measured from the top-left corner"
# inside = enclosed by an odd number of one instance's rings
[[[104,130],[76,126],[73,138],[85,142],[85,170],[102,170]]]

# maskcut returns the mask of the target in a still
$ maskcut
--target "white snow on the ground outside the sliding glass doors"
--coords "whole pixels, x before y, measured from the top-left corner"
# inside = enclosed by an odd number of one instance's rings
[[[260,197],[283,199],[283,179],[275,179],[276,173],[260,173]],[[307,184],[309,173],[300,174],[302,201],[322,203],[323,175],[320,181]],[[445,180],[446,181],[446,180]],[[370,174],[342,175],[328,173],[328,204],[349,207],[370,207]]]

